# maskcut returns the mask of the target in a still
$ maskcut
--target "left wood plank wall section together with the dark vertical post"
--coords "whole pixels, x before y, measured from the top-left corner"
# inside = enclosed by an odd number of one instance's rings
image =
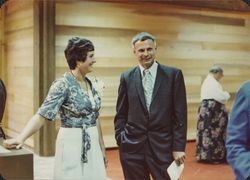
[[[7,83],[7,135],[17,136],[43,102],[55,79],[54,1],[8,0],[4,20],[3,74]],[[54,123],[46,122],[26,144],[40,155],[54,154]]]

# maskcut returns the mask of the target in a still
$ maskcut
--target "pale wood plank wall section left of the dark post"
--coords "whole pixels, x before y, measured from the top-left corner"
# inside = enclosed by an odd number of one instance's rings
[[[33,115],[33,1],[10,0],[4,13],[7,134],[14,137]],[[33,146],[33,138],[26,143]]]

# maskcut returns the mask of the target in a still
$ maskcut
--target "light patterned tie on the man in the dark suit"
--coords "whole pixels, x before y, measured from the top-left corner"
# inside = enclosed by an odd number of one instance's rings
[[[149,110],[153,94],[153,77],[148,69],[143,71],[142,85],[144,89],[146,106]]]

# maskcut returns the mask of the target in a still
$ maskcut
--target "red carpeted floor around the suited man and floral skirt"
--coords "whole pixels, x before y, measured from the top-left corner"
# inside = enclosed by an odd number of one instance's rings
[[[202,164],[194,157],[195,142],[188,142],[186,162],[180,180],[234,180],[234,174],[228,164]],[[117,149],[107,151],[109,166],[107,173],[112,180],[123,180],[122,169]]]

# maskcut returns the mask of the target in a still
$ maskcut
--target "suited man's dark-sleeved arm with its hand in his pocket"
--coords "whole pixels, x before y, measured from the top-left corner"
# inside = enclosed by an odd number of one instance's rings
[[[128,116],[127,87],[124,76],[121,75],[120,85],[118,89],[118,98],[116,103],[116,115],[114,119],[115,139],[118,146],[120,145],[121,142],[120,136],[127,122],[127,116]]]

